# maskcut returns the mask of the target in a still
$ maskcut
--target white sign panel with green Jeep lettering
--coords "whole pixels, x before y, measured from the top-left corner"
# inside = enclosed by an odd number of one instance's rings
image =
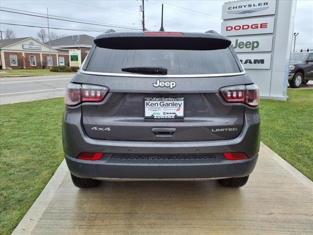
[[[263,52],[272,50],[273,36],[231,37],[236,52]]]

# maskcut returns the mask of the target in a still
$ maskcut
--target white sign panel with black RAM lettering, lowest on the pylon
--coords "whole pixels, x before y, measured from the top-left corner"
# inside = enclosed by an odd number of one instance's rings
[[[271,54],[237,54],[240,62],[244,68],[255,70],[267,70],[270,69]]]

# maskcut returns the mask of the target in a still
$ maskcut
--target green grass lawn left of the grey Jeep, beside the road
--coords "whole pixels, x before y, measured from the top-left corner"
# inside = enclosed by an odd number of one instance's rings
[[[0,106],[0,235],[20,222],[63,160],[64,98]]]

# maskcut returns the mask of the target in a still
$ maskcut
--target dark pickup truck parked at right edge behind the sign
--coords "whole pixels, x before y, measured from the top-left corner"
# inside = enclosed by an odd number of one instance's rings
[[[291,53],[289,65],[289,85],[299,88],[313,80],[313,52]]]

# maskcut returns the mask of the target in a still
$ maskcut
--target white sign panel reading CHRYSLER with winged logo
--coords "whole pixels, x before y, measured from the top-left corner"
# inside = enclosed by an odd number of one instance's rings
[[[223,5],[222,19],[274,15],[276,0],[235,1]]]

